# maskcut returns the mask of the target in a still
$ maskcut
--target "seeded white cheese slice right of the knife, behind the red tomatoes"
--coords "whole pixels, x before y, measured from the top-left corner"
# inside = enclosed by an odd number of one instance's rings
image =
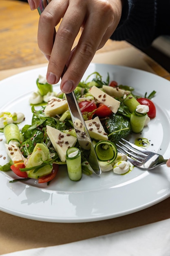
[[[119,106],[120,101],[117,101],[113,97],[106,94],[106,92],[103,92],[99,88],[97,88],[95,85],[90,89],[90,93],[101,103],[106,105],[110,110],[112,110],[113,113],[116,113]]]

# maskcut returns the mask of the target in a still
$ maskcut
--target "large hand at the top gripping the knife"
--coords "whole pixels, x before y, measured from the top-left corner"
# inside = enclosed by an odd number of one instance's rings
[[[37,9],[40,0],[28,0]],[[122,0],[51,0],[40,15],[38,46],[49,60],[46,79],[54,84],[60,80],[64,65],[67,71],[60,88],[69,93],[75,89],[93,59],[104,46],[121,18]],[[53,43],[54,27],[60,26]],[[74,40],[82,28],[77,46]]]

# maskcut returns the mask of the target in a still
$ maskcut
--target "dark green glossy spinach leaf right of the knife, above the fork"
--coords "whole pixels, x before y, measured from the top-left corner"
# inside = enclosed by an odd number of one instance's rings
[[[116,143],[130,133],[130,121],[125,116],[113,114],[107,121],[106,129],[108,130],[108,139]]]

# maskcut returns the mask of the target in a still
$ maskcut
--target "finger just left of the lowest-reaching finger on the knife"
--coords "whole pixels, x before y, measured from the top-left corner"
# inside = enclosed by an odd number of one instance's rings
[[[46,79],[49,83],[57,83],[62,75],[64,65],[68,61],[74,40],[84,20],[86,10],[76,8],[75,2],[70,4],[57,30]],[[71,21],[71,22],[70,22]]]

